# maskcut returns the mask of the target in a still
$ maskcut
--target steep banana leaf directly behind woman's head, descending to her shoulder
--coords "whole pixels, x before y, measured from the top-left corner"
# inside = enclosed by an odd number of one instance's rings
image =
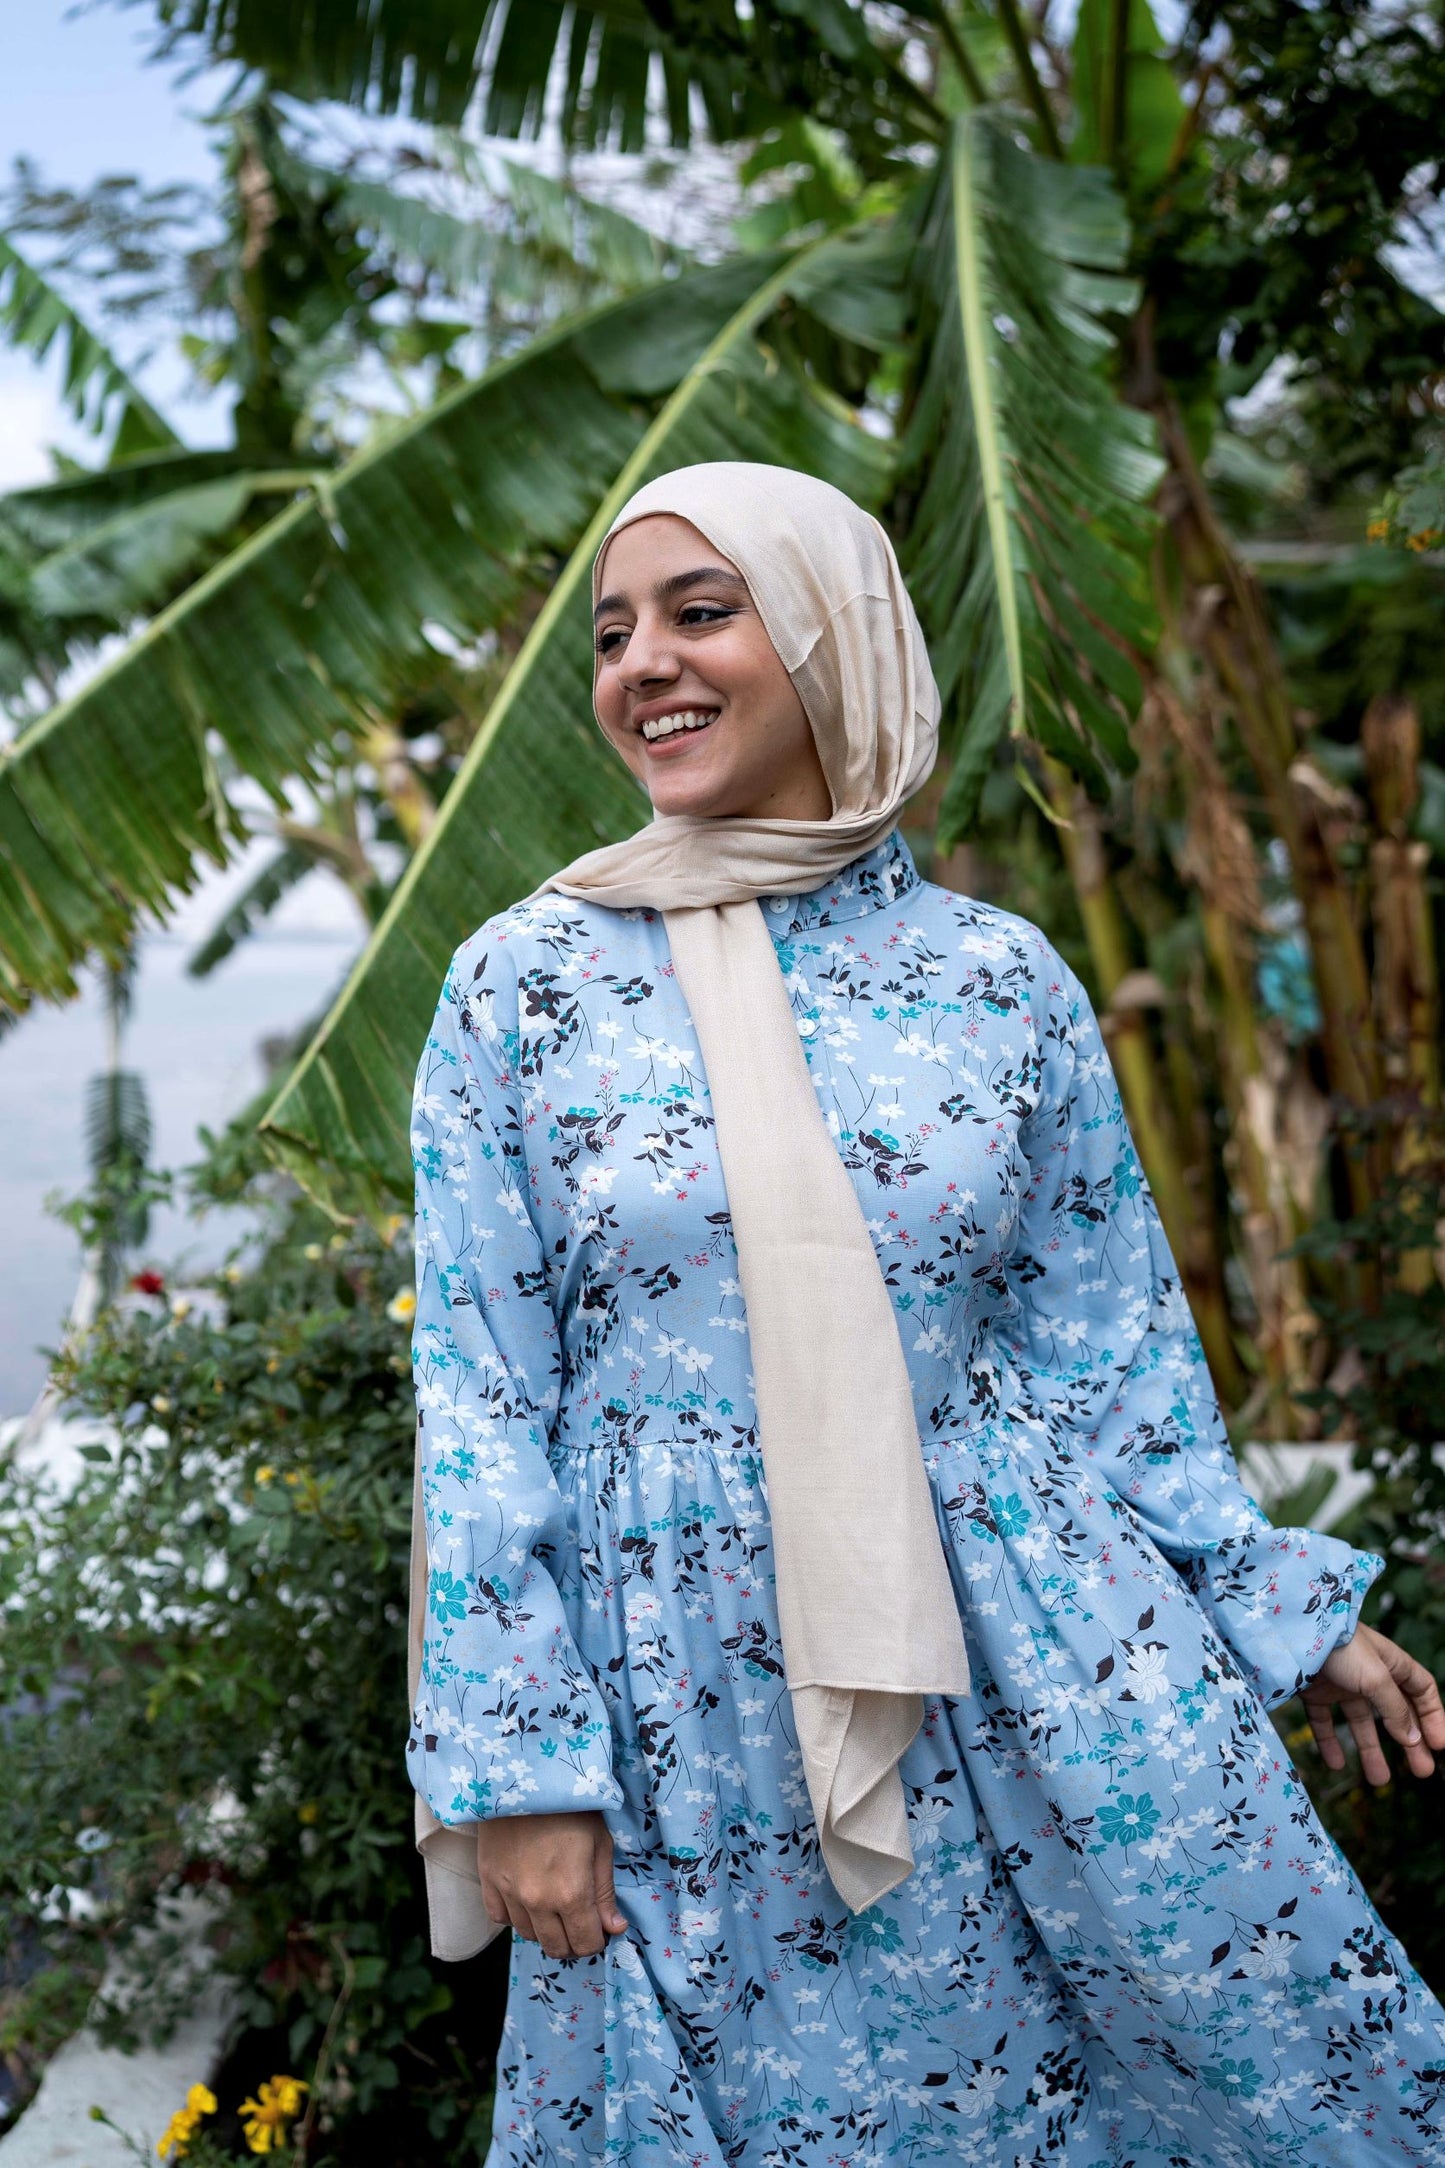
[[[648,477],[698,460],[797,466],[877,505],[890,449],[778,353],[758,327],[819,301],[871,236],[817,243],[750,295],[678,386],[596,509],[323,1030],[262,1138],[331,1205],[409,1184],[405,1110],[446,960],[490,913],[594,843],[630,835],[646,798],[591,720],[591,557]]]

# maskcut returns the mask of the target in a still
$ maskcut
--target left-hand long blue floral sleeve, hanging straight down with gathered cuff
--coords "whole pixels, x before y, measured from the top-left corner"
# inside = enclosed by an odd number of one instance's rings
[[[487,928],[453,958],[418,1064],[414,1368],[427,1628],[407,1769],[442,1823],[617,1806],[611,1726],[568,1626],[546,1459],[561,1351],[529,1210],[524,1095]]]

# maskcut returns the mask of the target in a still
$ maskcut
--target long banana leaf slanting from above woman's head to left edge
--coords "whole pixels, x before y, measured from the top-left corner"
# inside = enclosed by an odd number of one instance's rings
[[[773,262],[594,310],[351,460],[0,752],[0,999],[67,995],[76,963],[165,911],[238,839],[214,741],[284,809],[338,733],[472,642],[576,542],[648,425]]]

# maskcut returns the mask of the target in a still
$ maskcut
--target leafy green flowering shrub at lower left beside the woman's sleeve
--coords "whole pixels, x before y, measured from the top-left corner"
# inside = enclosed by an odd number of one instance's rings
[[[110,1424],[69,1496],[0,1474],[0,1947],[52,1897],[39,1934],[89,1979],[167,1893],[206,1886],[260,2036],[238,2083],[314,2077],[336,2021],[312,2161],[461,2164],[481,2148],[496,1969],[433,1969],[422,1943],[409,1255],[299,1205],[269,1214],[247,1264],[132,1296],[61,1366]],[[160,2023],[184,1992],[180,1953],[147,1945],[104,2025]]]

